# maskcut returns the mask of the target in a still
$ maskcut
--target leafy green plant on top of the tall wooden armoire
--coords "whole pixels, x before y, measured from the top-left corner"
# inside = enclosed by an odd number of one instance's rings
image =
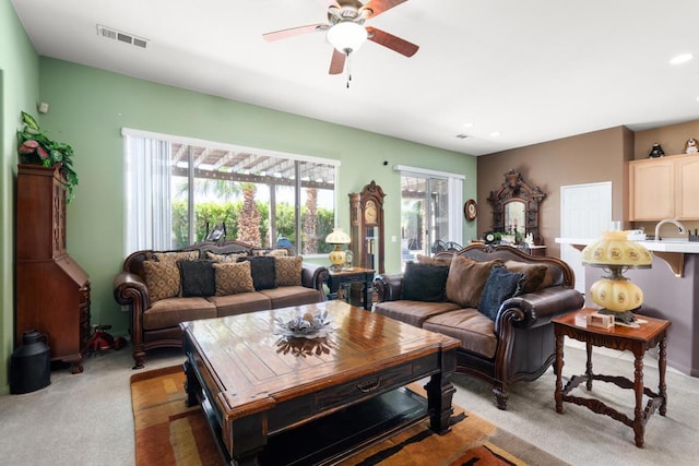
[[[66,184],[67,201],[70,202],[78,186],[78,174],[73,170],[73,148],[69,144],[49,139],[29,113],[23,111],[22,121],[24,127],[17,131],[20,163],[58,166]]]

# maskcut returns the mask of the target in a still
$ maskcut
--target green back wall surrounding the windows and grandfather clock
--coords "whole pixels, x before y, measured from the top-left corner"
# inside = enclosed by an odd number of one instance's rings
[[[128,314],[112,297],[125,256],[123,127],[337,159],[337,218],[345,231],[347,194],[376,180],[387,193],[387,272],[400,270],[400,241],[390,242],[392,235],[400,238],[400,175],[393,165],[463,174],[464,199],[476,195],[476,158],[464,154],[50,58],[40,58],[39,74],[42,100],[50,105],[42,128],[73,146],[80,177],[68,207],[68,251],[90,275],[92,322],[111,324],[116,334],[128,328]],[[464,223],[464,238],[474,235],[474,225]]]

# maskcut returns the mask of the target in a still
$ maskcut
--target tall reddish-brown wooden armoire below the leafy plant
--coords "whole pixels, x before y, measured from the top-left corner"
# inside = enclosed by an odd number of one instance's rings
[[[20,165],[16,184],[15,346],[45,334],[51,360],[82,372],[90,337],[90,280],[66,250],[66,187],[58,168]]]

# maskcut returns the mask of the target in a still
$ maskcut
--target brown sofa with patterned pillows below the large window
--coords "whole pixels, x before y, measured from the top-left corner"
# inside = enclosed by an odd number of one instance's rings
[[[305,264],[283,248],[200,242],[129,254],[114,280],[114,296],[131,310],[138,369],[146,350],[181,347],[181,322],[321,302],[327,279],[328,268]]]

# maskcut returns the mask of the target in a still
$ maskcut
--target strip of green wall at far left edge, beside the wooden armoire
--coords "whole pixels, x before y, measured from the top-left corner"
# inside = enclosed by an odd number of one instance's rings
[[[39,58],[10,0],[0,0],[0,394],[9,393],[14,346],[14,180],[20,111],[35,112]]]

